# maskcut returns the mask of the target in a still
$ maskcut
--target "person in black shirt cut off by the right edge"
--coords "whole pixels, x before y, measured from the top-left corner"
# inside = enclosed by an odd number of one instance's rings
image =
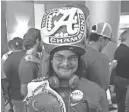
[[[118,112],[125,111],[125,96],[129,85],[129,30],[124,31],[121,36],[121,44],[116,49],[114,59],[117,60],[116,66],[116,98]]]

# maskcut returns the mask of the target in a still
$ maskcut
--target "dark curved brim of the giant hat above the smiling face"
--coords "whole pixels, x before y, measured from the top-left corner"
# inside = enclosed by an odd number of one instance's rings
[[[86,50],[82,47],[79,47],[79,46],[75,46],[75,45],[64,45],[64,46],[57,46],[57,47],[54,47],[50,54],[53,54],[57,51],[61,51],[61,50],[70,50],[74,53],[76,53],[77,55],[83,55]]]

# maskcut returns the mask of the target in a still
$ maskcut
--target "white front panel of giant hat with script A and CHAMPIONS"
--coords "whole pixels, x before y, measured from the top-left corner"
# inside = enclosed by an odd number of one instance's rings
[[[55,45],[80,42],[85,32],[84,21],[84,14],[78,8],[53,9],[42,19],[43,41]]]

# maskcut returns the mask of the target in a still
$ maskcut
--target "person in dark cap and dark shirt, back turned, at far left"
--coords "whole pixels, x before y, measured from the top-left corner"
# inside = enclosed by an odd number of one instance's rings
[[[13,52],[4,62],[3,69],[9,83],[8,93],[11,100],[10,104],[13,104],[15,112],[21,112],[20,107],[22,107],[23,96],[20,93],[20,78],[18,69],[20,60],[25,55],[22,38],[14,37],[12,40],[12,50]]]

